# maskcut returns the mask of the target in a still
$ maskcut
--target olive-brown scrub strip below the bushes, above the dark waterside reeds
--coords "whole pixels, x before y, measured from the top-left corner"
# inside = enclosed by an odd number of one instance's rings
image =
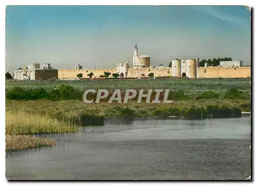
[[[167,117],[184,116],[188,110],[201,110],[201,113],[207,109],[239,109],[241,112],[250,112],[250,100],[240,99],[200,99],[200,100],[182,100],[168,103],[84,103],[79,100],[6,100],[7,111],[18,111],[36,113],[41,115],[50,115],[69,121],[82,123],[81,118],[94,116],[103,118],[119,117]],[[218,115],[217,115],[218,116]],[[190,118],[193,114],[190,114]],[[200,117],[201,118],[201,114]]]

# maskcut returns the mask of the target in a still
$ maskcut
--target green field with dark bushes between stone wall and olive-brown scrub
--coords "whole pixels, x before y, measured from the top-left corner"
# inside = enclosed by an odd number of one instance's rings
[[[202,99],[203,93],[212,96],[203,98],[225,99],[230,89],[241,91],[244,99],[250,99],[249,78],[224,79],[155,79],[155,80],[81,80],[81,81],[6,81],[6,97],[11,100],[82,100],[87,89],[108,89],[110,95],[115,89],[125,93],[126,89],[169,89],[172,100]],[[216,96],[215,96],[216,94]],[[171,95],[170,95],[171,96]],[[229,96],[229,95],[228,95]],[[237,96],[236,94],[234,96]],[[173,99],[174,98],[174,99]],[[176,99],[175,99],[176,98]],[[240,97],[237,97],[240,98]]]

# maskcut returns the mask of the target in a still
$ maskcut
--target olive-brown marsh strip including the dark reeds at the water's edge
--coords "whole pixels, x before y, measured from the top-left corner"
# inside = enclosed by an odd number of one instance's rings
[[[246,100],[248,101],[248,100]],[[247,108],[250,102],[241,104],[239,100],[199,100],[178,101],[172,104],[162,103],[93,103],[82,101],[7,101],[6,109],[16,111],[22,104],[29,112],[51,115],[56,119],[66,120],[71,125],[103,125],[103,118],[120,117],[167,117],[178,116],[189,119],[240,117],[241,106]],[[245,109],[244,109],[245,110]],[[68,121],[69,120],[69,121]]]

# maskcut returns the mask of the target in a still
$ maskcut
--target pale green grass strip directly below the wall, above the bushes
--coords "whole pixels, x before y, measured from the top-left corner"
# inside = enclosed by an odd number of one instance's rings
[[[60,85],[69,85],[77,90],[86,89],[170,89],[194,91],[195,93],[207,90],[225,91],[230,88],[250,90],[250,78],[179,78],[179,79],[134,79],[134,80],[81,80],[81,81],[6,81],[6,89],[23,87],[26,89],[44,88],[54,89]]]

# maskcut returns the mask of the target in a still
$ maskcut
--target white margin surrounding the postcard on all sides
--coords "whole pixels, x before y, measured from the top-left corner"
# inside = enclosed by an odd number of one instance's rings
[[[28,1],[28,0],[24,0],[24,1],[5,1],[2,0],[1,1],[1,20],[2,20],[2,24],[1,24],[1,44],[3,46],[2,48],[2,60],[5,61],[5,8],[7,5],[248,5],[248,6],[252,6],[254,7],[255,1],[252,0],[243,0],[243,1],[225,1],[225,0],[215,0],[215,1],[199,1],[199,0],[193,0],[193,1],[185,1],[185,0],[177,0],[177,1],[163,1],[163,0],[158,0],[155,2],[150,2],[150,1],[142,1],[142,0],[129,0],[129,1],[100,1],[100,0],[94,0],[91,2],[88,1],[76,1],[76,0],[72,0],[70,2],[63,2],[63,1],[51,1],[51,0],[44,0],[44,1]],[[254,31],[253,31],[254,33]],[[253,52],[254,52],[255,48],[253,48]],[[255,52],[254,52],[255,53]],[[254,62],[254,61],[253,61]],[[251,62],[252,63],[252,62]],[[2,62],[3,64],[3,62]],[[253,71],[255,71],[255,67],[256,65],[253,65]],[[1,68],[1,74],[2,74],[2,78],[1,78],[1,100],[0,102],[1,104],[1,110],[2,113],[5,113],[5,78],[4,78],[4,73],[5,73],[5,67]],[[254,82],[254,79],[252,80],[252,82]],[[254,85],[255,86],[255,85]],[[253,89],[254,90],[254,89]],[[253,91],[255,92],[255,90]],[[253,94],[253,97],[254,94]],[[253,110],[252,114],[254,114],[255,110]],[[2,115],[3,115],[2,114]],[[2,152],[0,152],[1,155],[1,184],[6,184],[7,180],[5,178],[5,117],[1,116],[1,126],[2,128],[0,129],[2,134],[0,134],[0,141],[1,141],[1,149]],[[253,123],[252,123],[253,124]],[[255,126],[254,126],[254,130],[255,130]],[[253,131],[254,131],[253,130]],[[255,133],[255,132],[254,132]],[[253,142],[252,142],[253,143]],[[252,149],[253,149],[252,145]],[[249,146],[248,146],[249,147]],[[254,157],[254,156],[253,156]],[[13,182],[14,183],[14,182]],[[16,182],[17,183],[17,182]],[[34,183],[34,182],[33,182]],[[41,182],[44,183],[44,182]],[[53,182],[48,182],[48,183],[53,183]],[[72,184],[73,182],[67,182]],[[89,182],[87,182],[89,183]],[[95,183],[95,182],[94,182]],[[131,183],[131,182],[122,182],[122,183]],[[157,183],[157,182],[155,182]],[[185,182],[179,182],[179,183],[185,183]],[[206,182],[204,182],[206,183]],[[219,184],[224,184],[224,182],[218,182]]]

